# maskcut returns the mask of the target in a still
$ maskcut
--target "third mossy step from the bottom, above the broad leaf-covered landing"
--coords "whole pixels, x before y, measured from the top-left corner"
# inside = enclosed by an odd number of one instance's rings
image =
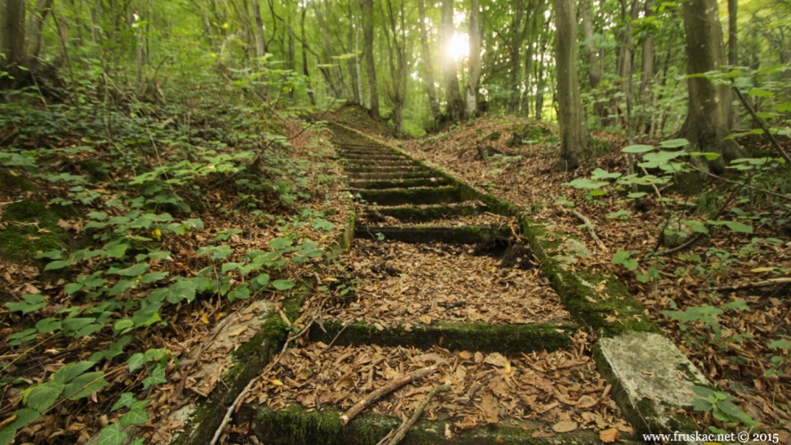
[[[495,236],[509,237],[509,227],[485,227],[469,225],[463,227],[442,226],[355,226],[355,238],[402,241],[404,243],[428,243],[437,241],[446,244],[477,244]]]

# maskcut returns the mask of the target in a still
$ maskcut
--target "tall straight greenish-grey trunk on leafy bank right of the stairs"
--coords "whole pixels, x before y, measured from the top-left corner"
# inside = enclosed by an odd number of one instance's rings
[[[554,0],[555,70],[558,80],[558,122],[560,125],[561,167],[579,166],[580,152],[588,145],[583,101],[577,78],[577,32],[575,2]]]

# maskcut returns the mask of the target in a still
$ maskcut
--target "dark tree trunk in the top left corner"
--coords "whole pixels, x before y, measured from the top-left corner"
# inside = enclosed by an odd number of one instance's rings
[[[0,0],[0,70],[9,71],[19,84],[25,66],[25,0]],[[3,81],[5,83],[5,81]]]

